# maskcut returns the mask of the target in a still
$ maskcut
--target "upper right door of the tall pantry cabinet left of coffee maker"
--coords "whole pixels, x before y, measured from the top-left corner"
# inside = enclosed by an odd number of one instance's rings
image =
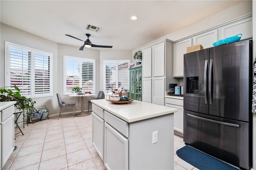
[[[153,77],[165,76],[165,42],[152,46]]]

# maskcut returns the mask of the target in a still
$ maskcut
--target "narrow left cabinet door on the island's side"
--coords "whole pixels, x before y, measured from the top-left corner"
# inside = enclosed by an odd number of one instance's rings
[[[92,144],[104,160],[104,120],[92,112]]]

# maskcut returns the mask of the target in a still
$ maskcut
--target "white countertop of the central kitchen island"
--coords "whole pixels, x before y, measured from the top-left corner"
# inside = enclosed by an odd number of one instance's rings
[[[126,104],[115,104],[105,99],[91,100],[98,107],[120,119],[132,123],[177,112],[178,109],[134,100]]]

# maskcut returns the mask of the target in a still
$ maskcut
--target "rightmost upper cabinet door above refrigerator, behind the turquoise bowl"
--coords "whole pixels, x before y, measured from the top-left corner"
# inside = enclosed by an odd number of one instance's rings
[[[221,39],[242,34],[241,40],[252,38],[252,18],[246,18],[221,28]]]

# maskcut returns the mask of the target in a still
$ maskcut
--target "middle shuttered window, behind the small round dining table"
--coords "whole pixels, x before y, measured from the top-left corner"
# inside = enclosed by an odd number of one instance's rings
[[[95,59],[63,56],[64,94],[72,93],[73,87],[96,93]]]

